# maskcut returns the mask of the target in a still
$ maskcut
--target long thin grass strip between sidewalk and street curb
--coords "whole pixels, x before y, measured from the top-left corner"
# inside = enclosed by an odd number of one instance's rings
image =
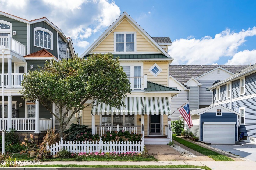
[[[211,170],[207,166],[193,166],[193,165],[77,165],[77,164],[68,164],[68,165],[27,165],[23,167],[72,167],[72,168],[201,168],[206,170]]]

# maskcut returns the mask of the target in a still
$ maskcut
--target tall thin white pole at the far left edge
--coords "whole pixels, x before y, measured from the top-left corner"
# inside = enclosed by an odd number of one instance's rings
[[[5,154],[5,86],[4,86],[4,53],[5,51],[2,50],[3,57],[2,57],[2,155]]]

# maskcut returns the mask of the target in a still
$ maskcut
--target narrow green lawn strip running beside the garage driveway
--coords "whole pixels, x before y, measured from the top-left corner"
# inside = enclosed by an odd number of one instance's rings
[[[197,144],[193,144],[189,141],[186,141],[184,139],[181,139],[179,137],[176,136],[172,136],[172,139],[179,142],[180,144],[183,144],[184,146],[187,146],[190,149],[193,149],[205,156],[208,156],[209,158],[212,158],[215,161],[234,161],[233,159],[225,156],[225,155],[221,155],[215,151],[209,150],[207,148],[201,147]]]

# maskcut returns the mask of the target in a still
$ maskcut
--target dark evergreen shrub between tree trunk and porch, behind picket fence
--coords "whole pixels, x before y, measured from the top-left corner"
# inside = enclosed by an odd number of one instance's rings
[[[87,125],[79,125],[79,124],[74,124],[72,123],[70,128],[64,133],[66,134],[66,140],[67,141],[74,141],[76,140],[76,135],[81,134],[81,133],[91,133],[91,129],[88,129],[89,126]]]

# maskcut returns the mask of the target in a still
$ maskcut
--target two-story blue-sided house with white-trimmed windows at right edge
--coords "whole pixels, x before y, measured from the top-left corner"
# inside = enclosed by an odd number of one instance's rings
[[[222,105],[240,113],[238,131],[244,133],[242,141],[255,143],[256,64],[215,84],[210,89],[213,91],[213,106]]]

